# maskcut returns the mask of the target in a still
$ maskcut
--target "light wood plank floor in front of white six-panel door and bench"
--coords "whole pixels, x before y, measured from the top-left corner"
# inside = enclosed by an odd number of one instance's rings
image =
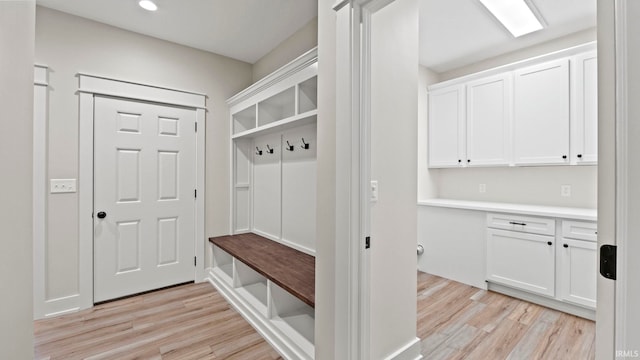
[[[281,359],[209,283],[38,320],[36,359]]]

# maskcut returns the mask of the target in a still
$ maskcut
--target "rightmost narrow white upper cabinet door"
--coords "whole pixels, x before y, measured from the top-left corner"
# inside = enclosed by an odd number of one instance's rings
[[[572,162],[598,162],[598,58],[595,51],[575,57]]]

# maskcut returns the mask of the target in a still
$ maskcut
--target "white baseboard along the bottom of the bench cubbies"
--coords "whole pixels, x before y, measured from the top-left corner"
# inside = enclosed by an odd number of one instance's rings
[[[269,319],[248,305],[229,284],[218,278],[210,268],[208,270],[207,280],[211,285],[218,290],[227,302],[229,302],[283,358],[289,360],[313,359],[313,357],[309,357],[302,349],[297,347],[289,338],[276,329]]]

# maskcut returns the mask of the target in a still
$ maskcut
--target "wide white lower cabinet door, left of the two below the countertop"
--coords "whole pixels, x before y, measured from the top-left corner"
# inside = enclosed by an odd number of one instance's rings
[[[487,279],[533,293],[555,294],[554,237],[487,230]]]

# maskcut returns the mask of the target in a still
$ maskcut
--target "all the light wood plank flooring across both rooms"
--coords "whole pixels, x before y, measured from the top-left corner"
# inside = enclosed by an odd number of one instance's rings
[[[594,358],[595,324],[418,273],[427,360]],[[209,283],[35,322],[36,359],[280,359]]]

